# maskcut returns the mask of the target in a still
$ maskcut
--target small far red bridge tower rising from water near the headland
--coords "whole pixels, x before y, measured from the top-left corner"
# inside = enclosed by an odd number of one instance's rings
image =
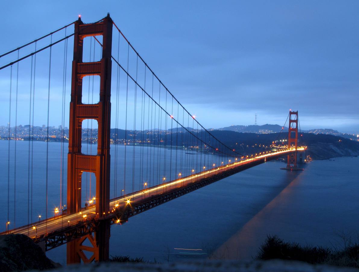
[[[298,110],[289,111],[288,148],[293,147],[295,147],[295,152],[288,154],[287,169],[297,169]]]

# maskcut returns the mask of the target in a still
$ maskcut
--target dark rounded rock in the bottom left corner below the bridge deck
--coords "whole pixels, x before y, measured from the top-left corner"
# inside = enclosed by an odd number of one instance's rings
[[[50,268],[55,268],[55,264],[28,236],[23,234],[0,236],[0,271]]]

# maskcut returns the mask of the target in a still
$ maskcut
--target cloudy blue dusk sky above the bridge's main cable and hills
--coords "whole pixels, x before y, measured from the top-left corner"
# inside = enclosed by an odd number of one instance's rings
[[[291,108],[303,128],[359,132],[358,1],[193,2],[4,4],[0,51],[110,12],[205,127],[253,124],[255,112],[281,124]]]

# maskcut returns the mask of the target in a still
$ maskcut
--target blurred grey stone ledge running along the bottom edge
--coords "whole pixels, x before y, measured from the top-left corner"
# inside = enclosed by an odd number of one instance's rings
[[[136,271],[148,271],[148,272],[158,272],[158,271],[169,271],[169,272],[179,272],[179,271],[193,271],[193,272],[255,272],[255,271],[264,271],[264,272],[320,272],[320,271],[358,271],[355,268],[343,268],[335,266],[325,266],[325,265],[312,265],[304,262],[296,261],[287,261],[287,260],[253,260],[253,261],[230,261],[230,260],[203,260],[197,262],[183,262],[183,263],[169,263],[169,264],[141,264],[141,263],[98,263],[90,265],[74,265],[63,267],[61,269],[56,269],[54,271],[103,271],[103,272],[113,272],[113,271],[126,271],[126,272],[136,272]]]

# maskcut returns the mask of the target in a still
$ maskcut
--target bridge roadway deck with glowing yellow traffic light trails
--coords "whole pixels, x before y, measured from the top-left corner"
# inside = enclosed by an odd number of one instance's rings
[[[302,151],[305,148],[298,148]],[[294,149],[284,149],[255,158],[236,161],[216,167],[191,176],[169,181],[157,186],[137,191],[125,196],[111,199],[111,212],[106,217],[111,223],[123,223],[131,216],[144,210],[156,207],[168,200],[177,198],[187,192],[218,181],[224,177],[251,168],[266,161],[282,157],[294,152]],[[81,235],[91,233],[96,225],[95,206],[89,206],[79,213],[63,214],[56,217],[34,222],[30,225],[9,230],[8,234],[25,234],[36,242],[45,241],[46,249],[52,249]],[[67,233],[67,235],[66,235]],[[0,235],[6,234],[2,232]],[[64,236],[65,235],[65,236]],[[60,238],[62,237],[62,238]]]

